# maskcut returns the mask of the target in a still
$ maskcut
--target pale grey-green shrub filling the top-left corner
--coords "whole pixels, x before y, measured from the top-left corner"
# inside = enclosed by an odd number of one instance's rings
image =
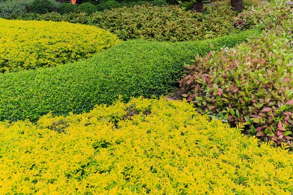
[[[11,15],[19,16],[26,13],[24,4],[14,1],[0,1],[0,18],[9,18]]]

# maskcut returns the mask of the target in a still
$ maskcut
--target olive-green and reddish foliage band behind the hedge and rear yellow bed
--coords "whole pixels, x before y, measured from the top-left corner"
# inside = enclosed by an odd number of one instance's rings
[[[205,8],[205,13],[185,11],[178,6],[122,7],[91,15],[71,13],[44,15],[28,13],[12,19],[69,21],[96,25],[120,39],[156,39],[185,41],[221,37],[238,32],[233,26],[235,13],[229,7]]]

